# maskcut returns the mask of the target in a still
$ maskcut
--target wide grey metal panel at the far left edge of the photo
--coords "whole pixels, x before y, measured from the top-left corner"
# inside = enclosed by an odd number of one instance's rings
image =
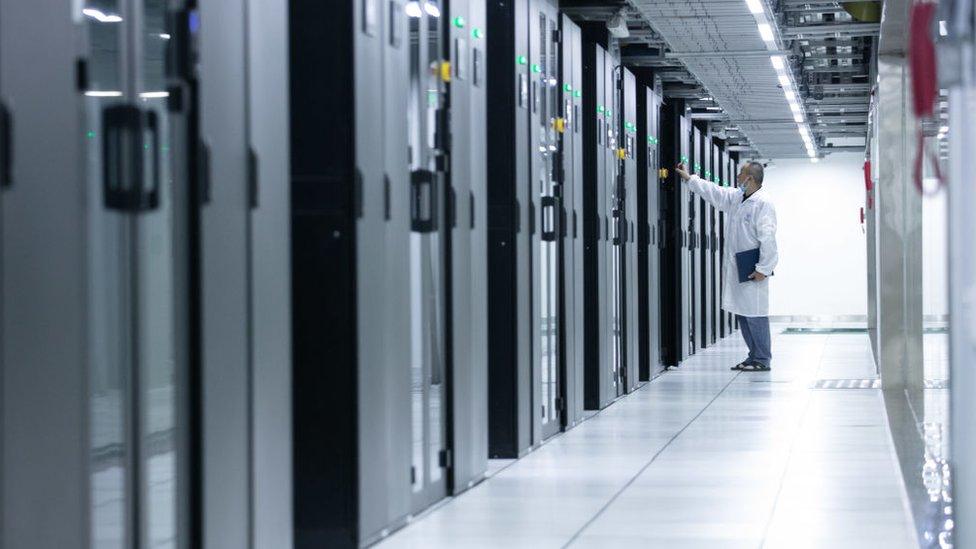
[[[5,549],[90,545],[89,198],[78,138],[87,128],[71,70],[74,16],[67,3],[0,3],[0,101],[13,153],[10,186],[0,183]]]

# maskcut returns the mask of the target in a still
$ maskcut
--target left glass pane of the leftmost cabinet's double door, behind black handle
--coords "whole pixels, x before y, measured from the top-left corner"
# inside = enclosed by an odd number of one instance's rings
[[[101,113],[119,103],[123,95],[120,44],[123,20],[120,2],[85,3],[83,24],[89,38],[89,87],[85,90],[87,148],[88,230],[91,316],[88,330],[91,414],[91,528],[92,545],[122,548],[128,545],[130,483],[127,464],[131,448],[126,410],[129,406],[126,365],[129,364],[129,323],[123,281],[123,227],[121,217],[107,212],[102,197]]]

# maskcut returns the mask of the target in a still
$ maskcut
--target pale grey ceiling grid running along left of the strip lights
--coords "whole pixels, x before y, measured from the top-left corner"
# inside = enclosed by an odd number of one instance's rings
[[[806,124],[784,95],[782,71],[770,57],[782,41],[772,18],[760,36],[757,17],[743,0],[633,0],[644,19],[668,44],[670,58],[708,90],[731,127],[764,158],[805,158]],[[768,10],[763,8],[768,16]],[[760,20],[761,21],[761,20]],[[759,23],[761,24],[761,23]],[[771,44],[767,45],[767,44]],[[787,71],[789,74],[789,71]],[[787,90],[796,86],[789,76]],[[799,118],[799,120],[798,120]],[[811,155],[812,156],[812,155]]]

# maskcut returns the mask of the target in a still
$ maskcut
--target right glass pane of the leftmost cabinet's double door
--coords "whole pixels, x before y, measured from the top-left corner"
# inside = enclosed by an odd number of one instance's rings
[[[141,368],[140,492],[150,547],[175,547],[177,540],[176,350],[174,340],[173,181],[170,174],[166,101],[166,0],[142,0],[142,59],[136,104],[155,113],[158,130],[144,145],[145,185],[158,185],[159,206],[136,219],[137,364]],[[158,181],[153,181],[158,177]]]

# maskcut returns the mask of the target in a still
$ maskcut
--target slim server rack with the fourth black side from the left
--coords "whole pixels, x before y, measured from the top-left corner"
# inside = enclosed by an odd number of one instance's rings
[[[637,91],[637,217],[640,380],[647,381],[662,366],[661,255],[666,243],[660,215],[661,83],[653,77],[638,80]]]

